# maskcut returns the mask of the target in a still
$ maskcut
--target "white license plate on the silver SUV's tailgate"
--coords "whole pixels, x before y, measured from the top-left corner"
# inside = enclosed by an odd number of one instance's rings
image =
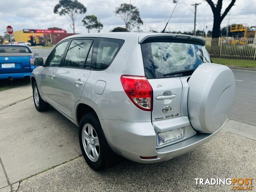
[[[157,146],[173,142],[184,137],[184,128],[178,128],[171,131],[166,131],[157,134]]]

